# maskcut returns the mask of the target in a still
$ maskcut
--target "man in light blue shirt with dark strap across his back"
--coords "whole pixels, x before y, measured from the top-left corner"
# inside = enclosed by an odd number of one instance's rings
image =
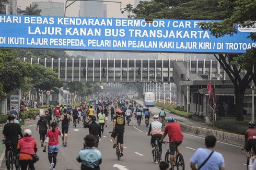
[[[224,158],[222,154],[214,151],[215,144],[216,138],[213,135],[205,137],[206,148],[197,149],[190,159],[190,167],[192,170],[224,170]],[[197,168],[195,166],[196,164]]]

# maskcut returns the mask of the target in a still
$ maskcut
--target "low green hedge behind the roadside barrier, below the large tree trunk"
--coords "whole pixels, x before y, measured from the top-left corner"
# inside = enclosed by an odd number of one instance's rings
[[[220,129],[224,129],[230,132],[245,135],[245,131],[248,128],[247,121],[237,121],[235,119],[223,119],[214,122],[214,125]]]

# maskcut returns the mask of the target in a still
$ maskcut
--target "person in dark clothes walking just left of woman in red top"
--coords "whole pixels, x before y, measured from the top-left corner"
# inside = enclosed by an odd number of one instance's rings
[[[40,117],[40,119],[37,122],[37,130],[39,127],[39,135],[40,135],[40,141],[41,141],[41,147],[43,147],[43,142],[45,139],[45,135],[47,133],[49,124],[48,124],[48,120],[45,119],[45,114],[43,113],[42,116]]]

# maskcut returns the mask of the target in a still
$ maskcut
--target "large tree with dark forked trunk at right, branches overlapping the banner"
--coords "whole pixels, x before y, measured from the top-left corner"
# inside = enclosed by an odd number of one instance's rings
[[[238,32],[238,27],[255,27],[256,21],[256,1],[255,0],[219,0],[221,7],[225,7],[226,14],[229,13],[229,16],[221,22],[212,22],[212,23],[202,23],[202,29],[210,30],[212,35],[216,38],[224,37],[225,35],[234,35]],[[238,27],[237,27],[238,26]],[[249,37],[254,42],[256,41],[256,33],[250,33]],[[231,55],[228,55],[231,56]],[[219,56],[219,59],[222,59],[224,56]],[[251,48],[247,50],[246,53],[242,55],[231,56],[233,68],[238,65],[240,68],[230,69],[228,63],[220,63],[224,66],[225,71],[228,71],[227,74],[229,78],[235,85],[235,95],[236,95],[236,113],[237,120],[243,120],[243,96],[245,95],[245,90],[248,87],[251,80],[256,82],[256,75],[252,72],[252,66],[255,66],[256,62],[256,50]],[[216,57],[217,58],[217,57]],[[224,59],[222,59],[224,60]],[[246,69],[246,75],[241,79],[237,75],[238,71],[241,69]],[[244,81],[245,80],[245,81]]]

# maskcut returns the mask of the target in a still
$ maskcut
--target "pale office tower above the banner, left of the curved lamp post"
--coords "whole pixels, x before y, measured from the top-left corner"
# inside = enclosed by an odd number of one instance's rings
[[[42,10],[42,16],[64,16],[64,3],[32,2],[32,5],[34,4],[37,4],[38,9]]]

